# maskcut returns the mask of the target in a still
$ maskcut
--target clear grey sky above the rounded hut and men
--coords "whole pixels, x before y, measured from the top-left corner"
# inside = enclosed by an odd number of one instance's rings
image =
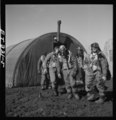
[[[112,4],[15,4],[5,6],[6,47],[26,39],[61,32],[79,40],[89,52],[90,44],[98,42],[101,50],[105,42],[113,39]]]

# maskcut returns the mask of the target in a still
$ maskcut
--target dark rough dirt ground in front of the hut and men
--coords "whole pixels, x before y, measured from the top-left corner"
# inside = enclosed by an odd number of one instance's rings
[[[112,80],[107,81],[107,99],[103,104],[89,102],[83,94],[80,100],[67,99],[67,94],[53,96],[51,89],[40,96],[40,87],[7,88],[6,117],[105,117],[113,116]]]

